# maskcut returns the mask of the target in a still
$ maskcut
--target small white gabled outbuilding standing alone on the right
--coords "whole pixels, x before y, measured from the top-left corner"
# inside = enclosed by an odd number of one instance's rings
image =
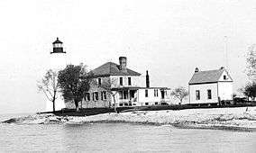
[[[196,68],[188,83],[190,104],[219,104],[233,99],[233,79],[224,67],[199,71]]]

